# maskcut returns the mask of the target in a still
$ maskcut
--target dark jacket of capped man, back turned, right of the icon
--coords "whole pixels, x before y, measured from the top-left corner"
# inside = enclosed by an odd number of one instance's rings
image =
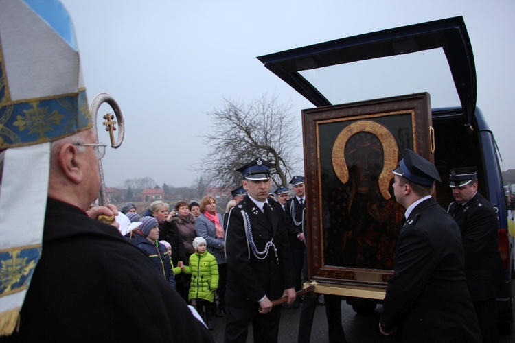
[[[481,342],[466,285],[459,228],[429,198],[400,230],[381,324],[398,327],[402,342]]]

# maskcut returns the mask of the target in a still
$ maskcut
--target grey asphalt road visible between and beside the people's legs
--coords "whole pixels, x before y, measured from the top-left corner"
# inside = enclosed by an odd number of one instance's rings
[[[512,283],[513,294],[515,294],[515,282]],[[345,337],[351,343],[375,343],[375,342],[395,342],[391,337],[383,336],[379,333],[378,323],[382,306],[378,305],[376,311],[371,316],[362,316],[354,313],[352,307],[347,305],[345,301],[341,303],[343,329]],[[515,310],[515,306],[514,306]],[[297,342],[297,331],[299,329],[299,309],[281,309],[281,327],[279,329],[279,342]],[[225,326],[225,318],[214,318],[213,337],[217,343],[223,342],[223,330]],[[311,342],[323,343],[328,340],[328,325],[325,322],[324,307],[319,305],[314,316],[313,329],[311,333]],[[247,342],[253,342],[252,331],[249,330],[249,338]],[[515,342],[515,326],[511,335],[502,336],[499,343]]]

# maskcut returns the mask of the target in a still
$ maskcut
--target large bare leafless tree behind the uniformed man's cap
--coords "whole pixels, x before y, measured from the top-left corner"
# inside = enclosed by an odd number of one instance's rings
[[[301,143],[301,132],[295,126],[291,104],[279,104],[275,95],[262,95],[250,104],[224,97],[222,108],[209,115],[212,130],[201,137],[211,149],[198,170],[209,174],[212,184],[239,185],[236,169],[258,157],[271,163],[275,186],[288,184],[301,164],[301,158],[293,154]]]

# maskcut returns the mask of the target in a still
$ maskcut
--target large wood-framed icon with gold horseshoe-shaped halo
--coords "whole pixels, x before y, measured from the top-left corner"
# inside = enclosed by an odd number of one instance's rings
[[[429,95],[312,108],[302,119],[308,275],[386,287],[404,213],[391,171],[407,148],[433,161]],[[380,158],[360,162],[369,151]]]

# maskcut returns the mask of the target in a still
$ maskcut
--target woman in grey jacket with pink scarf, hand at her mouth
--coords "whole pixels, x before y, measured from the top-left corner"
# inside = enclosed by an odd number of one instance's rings
[[[195,228],[198,236],[207,243],[207,251],[214,255],[218,263],[218,307],[215,316],[223,316],[225,312],[225,283],[227,282],[227,259],[224,253],[224,230],[222,215],[216,213],[216,199],[205,196],[201,200],[201,215],[196,219]]]

